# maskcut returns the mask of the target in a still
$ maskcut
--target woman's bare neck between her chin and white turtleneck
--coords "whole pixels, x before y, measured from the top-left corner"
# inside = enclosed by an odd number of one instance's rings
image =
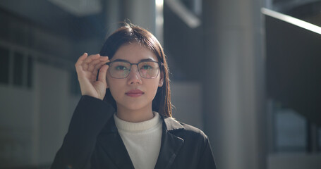
[[[146,120],[150,120],[154,117],[152,113],[152,107],[141,108],[139,110],[129,110],[121,106],[117,106],[117,117],[121,120],[125,120],[132,123],[139,123]]]

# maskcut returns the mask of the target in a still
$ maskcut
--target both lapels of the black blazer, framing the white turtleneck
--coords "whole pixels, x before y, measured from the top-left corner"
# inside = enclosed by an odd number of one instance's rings
[[[174,118],[164,118],[162,115],[161,117],[163,120],[162,144],[157,163],[155,165],[156,169],[171,168],[171,165],[184,142],[181,137],[177,137],[172,133],[176,130],[183,130],[183,125],[174,120]],[[117,168],[134,169],[131,158],[126,150],[125,144],[123,144],[121,136],[119,135],[113,117],[111,117],[97,137],[97,144],[102,146],[102,149],[106,151],[109,158],[111,158],[111,161],[114,161]]]

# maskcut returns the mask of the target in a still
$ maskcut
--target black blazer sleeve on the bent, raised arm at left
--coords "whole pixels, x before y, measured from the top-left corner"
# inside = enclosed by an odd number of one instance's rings
[[[114,111],[105,101],[81,96],[51,168],[90,168],[97,136]]]

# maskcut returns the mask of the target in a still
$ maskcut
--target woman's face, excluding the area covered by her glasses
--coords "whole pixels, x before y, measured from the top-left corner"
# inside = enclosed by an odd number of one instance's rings
[[[138,63],[145,59],[158,62],[157,56],[150,49],[138,43],[132,43],[121,46],[111,61],[124,60]],[[137,65],[132,65],[128,77],[123,79],[113,78],[107,72],[107,86],[116,101],[118,110],[139,111],[145,108],[152,110],[152,100],[156,95],[157,88],[162,87],[163,81],[160,70],[155,78],[140,77]]]

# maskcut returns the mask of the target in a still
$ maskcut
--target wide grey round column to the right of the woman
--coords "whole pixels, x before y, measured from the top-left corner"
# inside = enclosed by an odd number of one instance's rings
[[[260,1],[203,1],[204,122],[218,168],[266,168]]]

